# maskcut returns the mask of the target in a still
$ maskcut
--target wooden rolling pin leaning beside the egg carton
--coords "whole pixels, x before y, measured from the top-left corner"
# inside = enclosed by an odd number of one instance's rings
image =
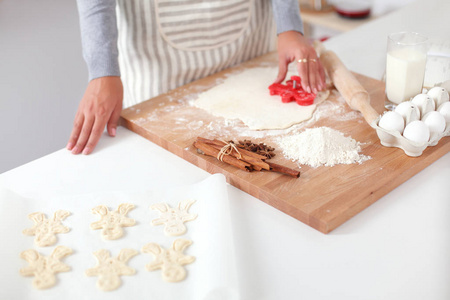
[[[353,110],[361,112],[366,122],[371,125],[379,114],[370,105],[369,93],[333,51],[326,50],[319,41],[314,42],[314,48],[328,76],[347,104]]]

